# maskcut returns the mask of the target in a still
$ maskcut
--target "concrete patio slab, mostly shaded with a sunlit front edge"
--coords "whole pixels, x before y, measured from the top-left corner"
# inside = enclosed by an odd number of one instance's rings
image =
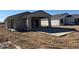
[[[53,36],[63,36],[72,33],[76,30],[69,28],[59,28],[59,27],[52,27],[52,28],[41,27],[41,28],[35,28],[33,29],[33,31],[48,34],[48,35],[53,35]]]

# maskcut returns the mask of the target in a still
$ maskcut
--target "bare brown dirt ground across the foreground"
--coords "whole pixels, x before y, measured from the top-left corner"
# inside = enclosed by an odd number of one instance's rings
[[[73,27],[77,31],[79,26]],[[73,32],[62,37],[50,36],[40,32],[11,32],[0,27],[0,43],[12,42],[7,48],[18,46],[22,49],[75,49],[79,48],[79,32]],[[7,44],[6,44],[7,45]],[[5,47],[6,48],[6,47]]]

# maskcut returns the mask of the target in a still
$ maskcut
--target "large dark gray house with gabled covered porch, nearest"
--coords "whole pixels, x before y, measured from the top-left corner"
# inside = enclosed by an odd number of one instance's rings
[[[51,27],[50,17],[50,14],[41,10],[33,13],[24,12],[7,17],[5,20],[5,27],[17,31],[31,30],[36,27],[41,27],[41,19],[43,18],[48,18],[48,26]]]

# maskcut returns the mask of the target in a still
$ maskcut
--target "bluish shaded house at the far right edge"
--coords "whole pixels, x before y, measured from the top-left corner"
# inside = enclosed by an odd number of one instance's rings
[[[79,25],[79,14],[67,15],[60,20],[61,25]]]

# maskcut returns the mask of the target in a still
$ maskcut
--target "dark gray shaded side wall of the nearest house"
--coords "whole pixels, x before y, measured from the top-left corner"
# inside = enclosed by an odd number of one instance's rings
[[[8,19],[5,22],[5,27],[7,29],[15,29],[17,31],[25,31],[27,26],[26,26],[26,19],[22,19],[20,16],[15,16],[12,19]]]

